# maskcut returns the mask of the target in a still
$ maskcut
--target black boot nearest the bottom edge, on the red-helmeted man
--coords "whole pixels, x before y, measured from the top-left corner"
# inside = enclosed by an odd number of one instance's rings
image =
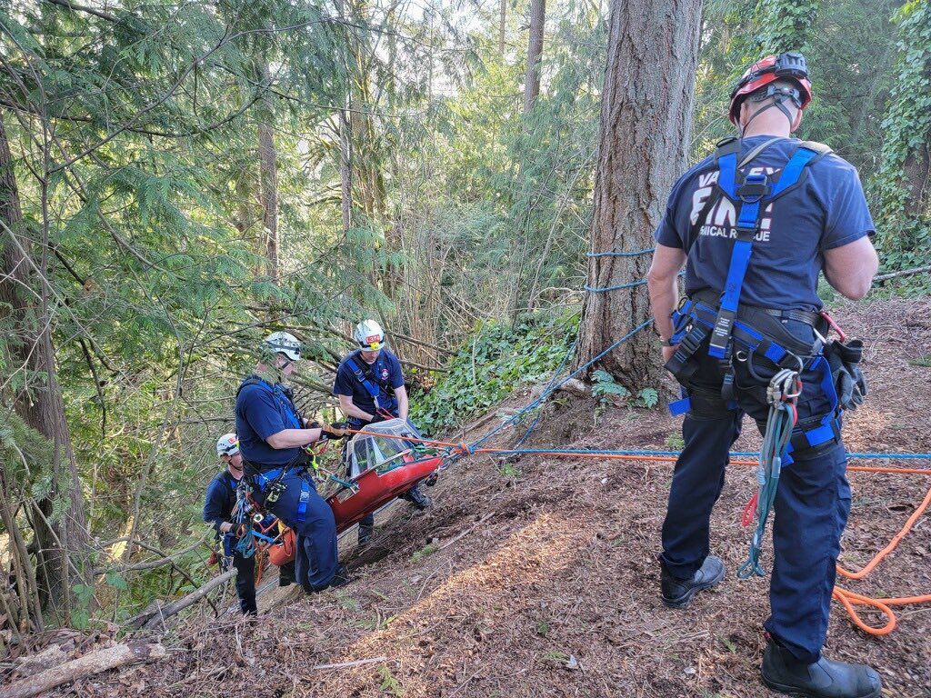
[[[809,698],[879,698],[883,681],[866,664],[799,662],[789,650],[770,639],[762,655],[762,682],[773,691]]]

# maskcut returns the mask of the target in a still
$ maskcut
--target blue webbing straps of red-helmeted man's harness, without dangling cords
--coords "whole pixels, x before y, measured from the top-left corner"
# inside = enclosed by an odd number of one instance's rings
[[[758,150],[755,154],[760,152]],[[768,181],[765,174],[750,174],[744,181],[738,182],[740,141],[731,139],[719,144],[716,153],[719,168],[718,189],[720,195],[725,196],[734,205],[737,214],[734,248],[720,301],[712,305],[707,299],[703,300],[701,294],[697,294],[696,298],[683,299],[680,307],[672,314],[675,333],[670,342],[678,344],[678,348],[666,365],[680,383],[688,386],[698,369],[693,356],[703,342],[708,340],[708,355],[717,358],[722,367],[722,398],[726,401],[728,409],[736,407],[733,367],[735,353],[747,357],[751,372],[751,357],[754,355],[765,357],[779,369],[801,371],[807,365],[808,369],[819,371],[821,388],[830,399],[830,412],[816,424],[804,424],[796,428],[788,447],[788,451],[794,450],[796,453],[801,450],[826,448],[840,438],[839,418],[842,410],[838,407],[828,361],[822,356],[822,344],[816,342],[814,346],[785,346],[785,342],[776,341],[760,328],[751,327],[747,322],[738,320],[737,315],[740,291],[749,267],[753,240],[760,232],[765,209],[776,199],[802,184],[807,174],[806,168],[828,153],[830,148],[827,146],[805,141],[800,143],[789,157],[789,162],[782,169],[778,181]],[[746,162],[742,162],[741,166],[743,165],[746,165]],[[706,205],[699,214],[696,225],[700,226],[703,223],[710,208],[710,205]],[[810,317],[815,314],[803,311],[784,311],[783,314],[797,316],[812,326],[816,325]],[[764,379],[761,381],[763,383],[760,387],[765,391]],[[692,401],[692,396],[685,397],[671,403],[669,410],[672,414],[682,414],[693,408]],[[788,451],[785,459],[787,464],[791,463]]]

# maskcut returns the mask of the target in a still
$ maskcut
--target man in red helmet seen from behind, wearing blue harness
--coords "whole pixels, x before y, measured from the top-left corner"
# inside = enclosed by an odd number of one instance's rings
[[[760,534],[738,572],[762,574],[756,556],[772,505],[763,682],[785,693],[866,698],[880,695],[878,674],[821,653],[850,511],[841,420],[866,385],[859,344],[826,340],[817,280],[823,272],[856,300],[878,262],[857,170],[827,146],[790,138],[811,95],[799,53],[751,66],[731,96],[740,137],[682,175],[655,233],[650,299],[666,368],[682,386],[670,409],[685,414],[662,530],[661,593],[682,608],[722,581],[708,528],[728,451],[744,414],[764,433],[769,423],[763,451],[768,443],[775,455],[760,473]]]

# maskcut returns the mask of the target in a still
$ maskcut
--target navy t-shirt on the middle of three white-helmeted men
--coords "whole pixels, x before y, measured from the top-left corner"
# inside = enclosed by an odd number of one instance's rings
[[[301,429],[301,417],[284,395],[280,384],[250,383],[236,396],[236,436],[239,450],[249,463],[283,465],[300,449],[273,449],[266,438],[284,429]]]

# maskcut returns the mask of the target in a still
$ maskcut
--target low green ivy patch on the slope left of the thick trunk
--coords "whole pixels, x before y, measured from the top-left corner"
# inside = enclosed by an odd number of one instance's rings
[[[566,357],[578,315],[528,315],[511,326],[479,324],[436,387],[412,396],[411,418],[425,434],[462,426],[521,384],[544,383]]]

